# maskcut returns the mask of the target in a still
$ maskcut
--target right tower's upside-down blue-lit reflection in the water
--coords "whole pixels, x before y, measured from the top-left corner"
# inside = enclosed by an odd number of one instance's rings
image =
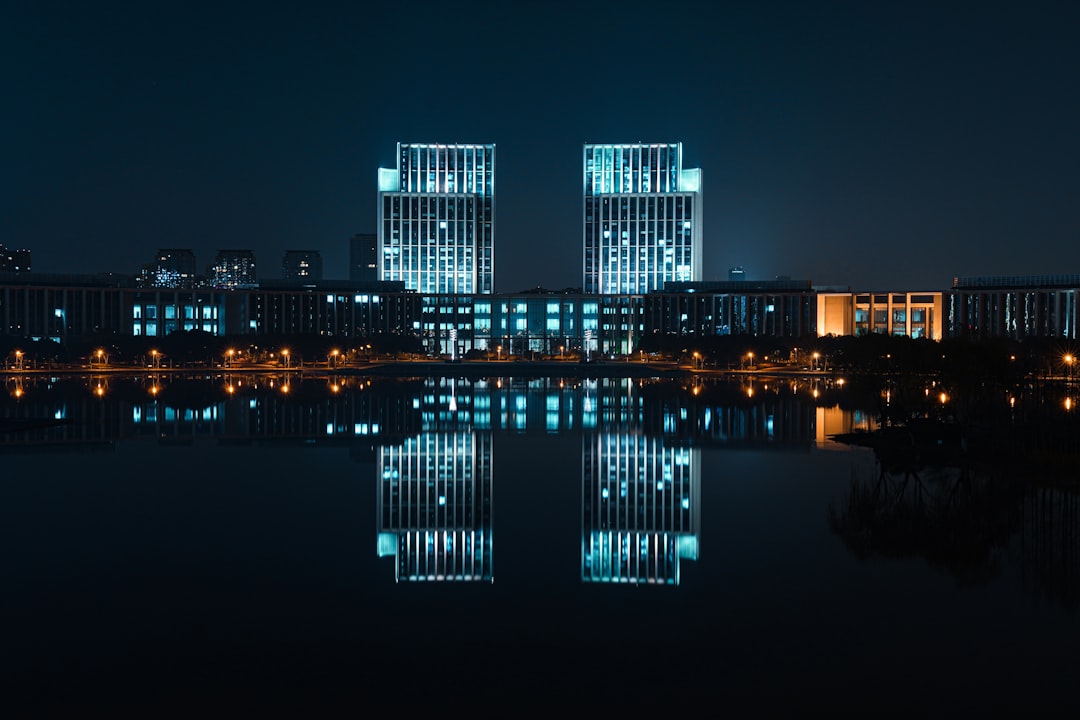
[[[581,580],[677,585],[698,559],[701,451],[631,433],[586,435]]]

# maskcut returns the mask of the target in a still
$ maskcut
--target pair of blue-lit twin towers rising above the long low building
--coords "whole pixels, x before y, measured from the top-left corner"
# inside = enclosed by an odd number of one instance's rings
[[[702,280],[701,171],[681,142],[585,145],[582,289]],[[426,294],[495,291],[495,146],[397,144],[379,168],[378,277]]]

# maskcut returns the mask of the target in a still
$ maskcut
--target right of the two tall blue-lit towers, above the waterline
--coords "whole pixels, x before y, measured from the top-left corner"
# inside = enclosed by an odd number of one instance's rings
[[[585,293],[702,279],[701,171],[681,142],[585,145],[583,169]]]

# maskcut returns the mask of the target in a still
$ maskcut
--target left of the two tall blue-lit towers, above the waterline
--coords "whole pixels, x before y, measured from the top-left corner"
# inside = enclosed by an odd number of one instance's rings
[[[495,288],[495,146],[397,144],[379,168],[379,280],[418,293]]]

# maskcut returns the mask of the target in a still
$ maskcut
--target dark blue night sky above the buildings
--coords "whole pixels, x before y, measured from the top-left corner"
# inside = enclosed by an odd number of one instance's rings
[[[497,289],[580,286],[582,145],[681,141],[706,279],[1078,273],[1077,6],[5,3],[0,243],[343,279],[396,142],[494,142]]]

